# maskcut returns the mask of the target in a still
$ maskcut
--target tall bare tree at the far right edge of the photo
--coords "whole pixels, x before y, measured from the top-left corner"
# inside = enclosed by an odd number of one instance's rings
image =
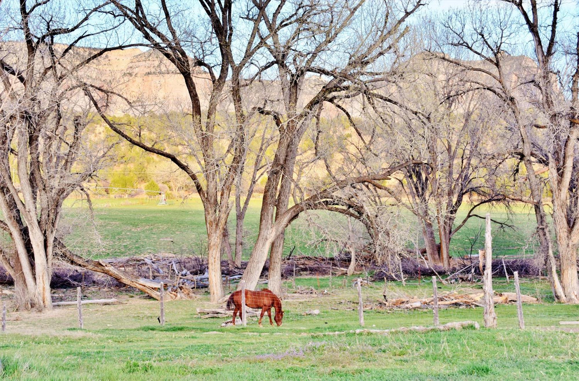
[[[578,127],[573,122],[576,98],[573,98],[573,91],[569,91],[571,99],[566,99],[566,89],[562,85],[573,88],[576,86],[576,79],[573,79],[577,76],[555,68],[555,48],[560,43],[560,2],[555,1],[543,10],[538,9],[535,1],[531,1],[528,8],[526,5],[522,1],[508,1],[489,12],[483,3],[472,2],[468,12],[449,14],[444,23],[448,45],[479,61],[465,61],[449,55],[438,57],[470,72],[472,89],[493,94],[508,112],[507,126],[518,131],[521,137],[520,148],[514,153],[521,158],[527,173],[537,218],[540,255],[547,263],[555,299],[576,303],[579,224],[577,203],[573,201],[577,197],[573,179],[577,178]],[[525,29],[528,34],[521,37]],[[546,37],[543,30],[548,31]],[[534,62],[508,54],[508,50],[525,52],[523,47],[528,37],[534,41],[534,49],[529,52]],[[556,74],[559,74],[558,81]],[[535,165],[549,168],[561,282],[543,206],[541,171],[536,171]]]

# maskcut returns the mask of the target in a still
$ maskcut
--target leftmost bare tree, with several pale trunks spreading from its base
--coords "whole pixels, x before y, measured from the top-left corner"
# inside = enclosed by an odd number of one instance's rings
[[[63,202],[82,189],[112,148],[87,139],[94,120],[82,90],[90,85],[81,73],[123,46],[78,46],[119,25],[96,21],[105,3],[74,5],[25,0],[16,9],[2,5],[9,15],[4,38],[17,42],[0,46],[0,229],[12,239],[2,244],[0,263],[14,279],[17,303],[26,309],[52,309],[53,263],[65,248],[58,230]]]

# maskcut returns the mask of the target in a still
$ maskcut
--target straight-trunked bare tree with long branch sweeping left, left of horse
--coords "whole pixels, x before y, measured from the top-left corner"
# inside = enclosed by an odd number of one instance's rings
[[[186,113],[191,117],[189,122],[184,123],[179,116],[168,123],[168,129],[162,134],[170,134],[173,141],[166,148],[157,143],[158,129],[147,129],[148,140],[140,131],[123,129],[107,118],[95,97],[89,96],[113,131],[145,151],[170,159],[195,185],[207,226],[211,301],[218,301],[223,296],[221,247],[232,207],[229,197],[236,178],[243,173],[246,127],[255,114],[255,109],[243,102],[243,89],[248,86],[244,71],[255,64],[254,55],[261,49],[258,26],[269,0],[249,3],[247,8],[236,7],[237,3],[231,1],[200,0],[198,5],[203,17],[199,25],[188,22],[185,14],[192,16],[195,10],[183,3],[160,0],[158,8],[139,0],[112,0],[111,3],[115,10],[110,12],[115,19],[128,21],[146,45],[161,53],[177,69],[188,91]],[[240,21],[234,19],[237,13],[242,16]],[[240,26],[244,20],[250,21]],[[240,54],[234,54],[238,49]],[[210,76],[211,82],[205,109],[201,107],[200,89],[195,81],[200,68]],[[233,105],[233,118],[221,122],[219,106],[224,99]],[[221,112],[227,115],[223,109]]]

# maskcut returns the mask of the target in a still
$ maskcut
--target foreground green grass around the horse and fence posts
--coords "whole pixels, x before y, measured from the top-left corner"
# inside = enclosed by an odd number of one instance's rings
[[[496,307],[499,328],[413,332],[391,335],[321,336],[320,332],[356,329],[354,288],[334,288],[321,279],[323,296],[289,295],[282,327],[221,328],[223,318],[200,319],[196,307],[208,298],[166,303],[167,324],[157,323],[159,304],[135,294],[124,304],[84,307],[80,331],[76,307],[58,307],[45,314],[10,312],[8,334],[0,336],[0,359],[7,380],[258,380],[258,379],[577,379],[579,336],[559,330],[559,320],[577,320],[579,307],[541,303],[525,305],[527,329],[516,323],[516,307]],[[298,285],[317,280],[302,278]],[[496,280],[499,290],[512,283]],[[455,286],[460,287],[460,286]],[[477,285],[471,287],[479,287]],[[534,295],[548,285],[523,281]],[[449,290],[444,287],[439,292]],[[382,298],[383,284],[364,288],[366,302]],[[72,291],[56,291],[74,298]],[[431,284],[401,287],[389,283],[394,295],[432,295]],[[86,297],[94,297],[86,291]],[[5,297],[4,297],[5,298]],[[307,309],[318,316],[302,316]],[[441,323],[477,320],[481,308],[444,309]],[[368,310],[367,328],[431,325],[430,310],[411,312]]]

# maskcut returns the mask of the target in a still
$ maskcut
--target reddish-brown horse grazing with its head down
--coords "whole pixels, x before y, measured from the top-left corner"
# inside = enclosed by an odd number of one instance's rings
[[[273,325],[272,321],[272,307],[276,309],[276,315],[273,317],[276,321],[278,327],[281,326],[281,320],[284,317],[284,312],[281,310],[281,301],[272,291],[263,288],[263,290],[252,291],[245,290],[245,305],[250,308],[261,308],[261,316],[259,316],[259,327],[262,327],[261,320],[263,319],[263,314],[267,311],[267,316],[269,316],[269,324]],[[241,308],[241,290],[233,292],[227,301],[227,309],[233,309],[233,320],[231,321],[235,325],[235,317],[237,312],[239,312],[239,317],[243,319],[241,313],[243,309]]]

